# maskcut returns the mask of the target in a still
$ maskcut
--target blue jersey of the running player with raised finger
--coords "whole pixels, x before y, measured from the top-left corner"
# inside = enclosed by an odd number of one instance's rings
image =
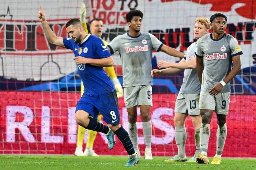
[[[74,51],[76,57],[99,59],[111,56],[102,40],[95,35],[89,34],[82,44],[75,43],[72,38],[63,38],[63,43],[67,49]],[[115,90],[112,80],[103,67],[78,64],[78,73],[84,84],[84,94],[101,95]]]

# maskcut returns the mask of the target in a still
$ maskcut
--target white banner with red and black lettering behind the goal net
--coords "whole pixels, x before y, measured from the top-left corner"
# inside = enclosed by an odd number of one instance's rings
[[[221,12],[227,16],[227,29],[236,37],[243,55],[241,68],[252,67],[256,48],[256,2],[251,0],[56,0],[3,1],[0,8],[0,76],[6,79],[48,81],[62,78],[77,70],[74,53],[50,44],[37,19],[39,5],[44,7],[50,28],[58,37],[67,37],[65,23],[79,18],[82,3],[86,2],[86,21],[102,19],[102,38],[112,41],[129,30],[125,15],[136,8],[144,13],[142,32],[154,34],[165,45],[186,51],[194,42],[195,19]],[[221,4],[221,5],[219,5]],[[154,52],[157,61],[174,62],[178,58]],[[113,56],[114,65],[121,67],[120,56]],[[1,68],[1,67],[0,67]],[[121,70],[120,70],[121,71]],[[118,71],[118,75],[121,75]]]

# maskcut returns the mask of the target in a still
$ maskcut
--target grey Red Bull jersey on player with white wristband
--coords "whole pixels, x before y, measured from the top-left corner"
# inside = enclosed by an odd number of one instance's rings
[[[213,39],[212,33],[204,35],[197,41],[196,56],[204,58],[201,90],[210,88],[221,82],[231,71],[232,57],[241,55],[242,51],[236,38],[224,33],[223,37]],[[221,92],[230,91],[230,82]]]

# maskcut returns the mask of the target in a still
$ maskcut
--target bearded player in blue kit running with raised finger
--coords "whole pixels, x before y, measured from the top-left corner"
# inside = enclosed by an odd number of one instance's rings
[[[66,24],[69,38],[57,37],[46,21],[45,11],[41,6],[40,8],[38,19],[42,23],[47,40],[51,44],[71,49],[75,54],[74,60],[84,84],[84,94],[76,105],[76,122],[86,129],[105,133],[109,149],[114,147],[114,134],[117,135],[129,154],[125,166],[135,166],[139,162],[139,156],[135,153],[128,132],[120,124],[116,90],[103,69],[113,65],[108,48],[97,36],[87,35],[78,19],[71,19]],[[99,112],[108,126],[97,121]]]

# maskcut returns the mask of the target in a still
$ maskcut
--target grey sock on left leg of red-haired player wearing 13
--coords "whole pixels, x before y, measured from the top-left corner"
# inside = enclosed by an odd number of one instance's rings
[[[185,126],[175,127],[174,135],[178,147],[178,156],[180,156],[180,158],[186,158],[185,143],[187,139],[187,132]]]

